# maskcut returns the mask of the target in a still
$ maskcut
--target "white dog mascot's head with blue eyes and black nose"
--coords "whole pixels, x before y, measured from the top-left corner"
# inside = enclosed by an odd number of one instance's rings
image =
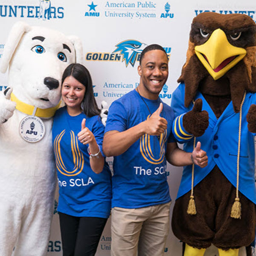
[[[0,71],[9,65],[9,86],[26,104],[52,108],[61,98],[61,76],[74,62],[82,63],[82,44],[77,37],[18,22],[7,39]]]

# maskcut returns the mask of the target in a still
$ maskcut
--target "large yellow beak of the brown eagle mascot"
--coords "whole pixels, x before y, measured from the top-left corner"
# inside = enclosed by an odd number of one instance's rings
[[[195,54],[217,80],[244,58],[246,50],[230,44],[224,31],[216,29],[206,43],[195,47]]]

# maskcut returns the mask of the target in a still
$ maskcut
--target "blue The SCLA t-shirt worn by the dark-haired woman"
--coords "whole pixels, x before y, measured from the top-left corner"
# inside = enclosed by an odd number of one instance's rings
[[[106,162],[99,174],[90,168],[88,144],[83,145],[77,137],[83,118],[102,152],[104,125],[99,116],[87,117],[84,113],[70,116],[63,107],[58,109],[53,119],[52,145],[58,174],[58,211],[77,217],[108,218],[111,172]]]

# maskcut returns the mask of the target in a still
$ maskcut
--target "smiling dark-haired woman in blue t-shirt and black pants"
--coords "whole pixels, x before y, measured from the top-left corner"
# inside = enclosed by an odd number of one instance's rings
[[[110,214],[111,172],[102,154],[104,126],[89,71],[70,64],[63,73],[62,99],[52,144],[58,174],[58,212],[63,256],[93,256]]]

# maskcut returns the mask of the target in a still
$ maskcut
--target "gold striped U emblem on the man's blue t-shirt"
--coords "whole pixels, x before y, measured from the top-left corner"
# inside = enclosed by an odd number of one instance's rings
[[[150,115],[148,115],[147,119]],[[166,143],[166,130],[164,133],[162,133],[159,137],[159,146],[160,151],[158,156],[154,156],[151,150],[150,145],[150,135],[144,134],[142,137],[140,137],[140,153],[142,154],[143,158],[148,161],[148,163],[152,164],[160,164],[163,162],[165,157],[165,143]],[[153,149],[154,152],[156,152],[155,148]]]

